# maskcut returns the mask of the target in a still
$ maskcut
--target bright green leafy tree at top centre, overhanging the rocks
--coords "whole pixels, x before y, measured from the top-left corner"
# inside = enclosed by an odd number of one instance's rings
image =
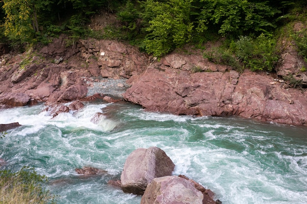
[[[141,17],[147,25],[143,42],[148,53],[160,57],[190,41],[193,28],[189,19],[191,0],[147,0],[142,6]]]

